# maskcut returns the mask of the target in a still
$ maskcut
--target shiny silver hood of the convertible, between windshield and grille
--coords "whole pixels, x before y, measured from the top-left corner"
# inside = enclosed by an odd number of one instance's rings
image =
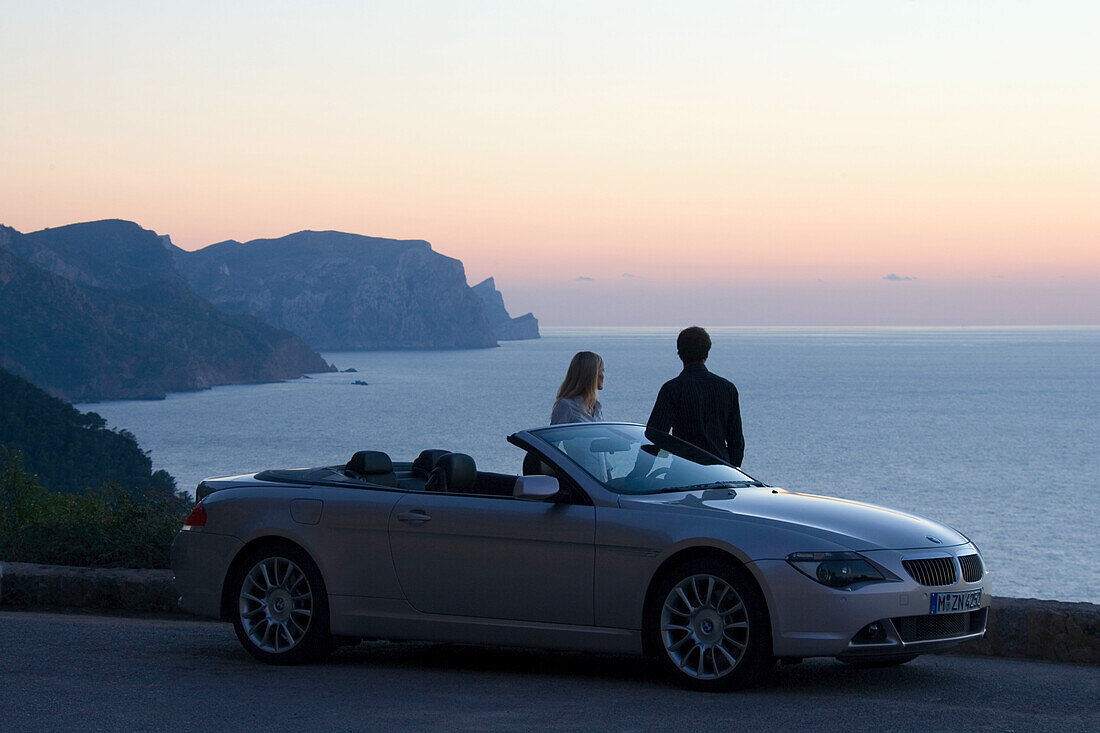
[[[730,519],[759,519],[822,537],[854,550],[943,548],[969,541],[950,527],[915,514],[774,488],[623,496],[620,506],[648,504]]]

